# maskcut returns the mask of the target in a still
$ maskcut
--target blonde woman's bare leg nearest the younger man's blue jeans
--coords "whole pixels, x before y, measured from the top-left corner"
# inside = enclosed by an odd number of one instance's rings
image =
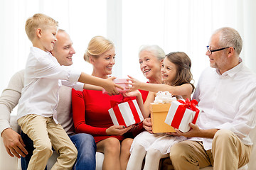
[[[110,137],[97,143],[97,152],[104,153],[103,170],[120,170],[120,142],[117,138]]]

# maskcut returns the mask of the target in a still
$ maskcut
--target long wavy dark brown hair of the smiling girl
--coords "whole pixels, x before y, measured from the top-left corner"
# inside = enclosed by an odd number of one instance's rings
[[[191,83],[193,76],[191,74],[191,60],[185,52],[170,52],[166,55],[167,59],[176,65],[176,77],[171,86],[181,86],[182,84],[191,84],[193,90],[195,86]],[[192,92],[193,92],[192,90]]]

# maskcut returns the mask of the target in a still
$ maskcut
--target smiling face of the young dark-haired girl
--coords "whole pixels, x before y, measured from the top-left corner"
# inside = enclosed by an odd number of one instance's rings
[[[171,84],[176,78],[177,69],[173,62],[170,62],[167,57],[164,58],[164,62],[161,67],[162,81],[166,84]]]

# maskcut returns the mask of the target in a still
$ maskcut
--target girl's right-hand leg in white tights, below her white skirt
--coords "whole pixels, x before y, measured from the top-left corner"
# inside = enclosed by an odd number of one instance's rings
[[[168,157],[169,154],[161,154],[159,150],[149,149],[146,152],[144,170],[159,169],[159,161],[161,158]]]

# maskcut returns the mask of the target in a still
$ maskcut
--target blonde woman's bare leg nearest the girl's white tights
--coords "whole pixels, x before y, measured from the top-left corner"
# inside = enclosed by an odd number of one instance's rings
[[[132,138],[126,138],[121,143],[120,164],[122,170],[127,169],[127,164],[130,157],[129,149],[131,148],[132,141]]]

